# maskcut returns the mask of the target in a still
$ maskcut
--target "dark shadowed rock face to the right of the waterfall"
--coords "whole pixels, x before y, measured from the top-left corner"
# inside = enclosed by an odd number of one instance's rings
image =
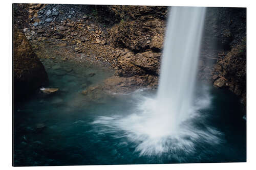
[[[246,8],[207,8],[201,46],[199,79],[246,104]]]

